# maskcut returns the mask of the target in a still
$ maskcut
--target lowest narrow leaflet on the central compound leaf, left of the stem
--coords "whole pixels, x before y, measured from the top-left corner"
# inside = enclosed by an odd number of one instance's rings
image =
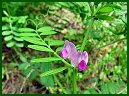
[[[66,69],[66,67],[61,67],[61,68],[53,69],[53,70],[50,70],[50,71],[42,73],[40,76],[43,77],[43,76],[53,75],[53,74],[56,74],[56,73],[59,73],[59,72],[65,70],[65,69]]]

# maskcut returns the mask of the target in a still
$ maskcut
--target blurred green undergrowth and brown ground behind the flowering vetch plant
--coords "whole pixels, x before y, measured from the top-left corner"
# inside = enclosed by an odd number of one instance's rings
[[[94,19],[85,49],[88,70],[78,73],[78,94],[127,94],[127,3],[126,2],[2,2],[2,93],[71,93],[72,71],[40,78],[39,74],[63,66],[62,62],[31,63],[50,53],[27,48],[19,28],[49,26],[53,40],[69,40],[79,50]],[[63,44],[53,44],[61,50]],[[58,48],[58,49],[57,49]],[[28,66],[29,65],[29,66]],[[31,71],[34,69],[34,71]]]

